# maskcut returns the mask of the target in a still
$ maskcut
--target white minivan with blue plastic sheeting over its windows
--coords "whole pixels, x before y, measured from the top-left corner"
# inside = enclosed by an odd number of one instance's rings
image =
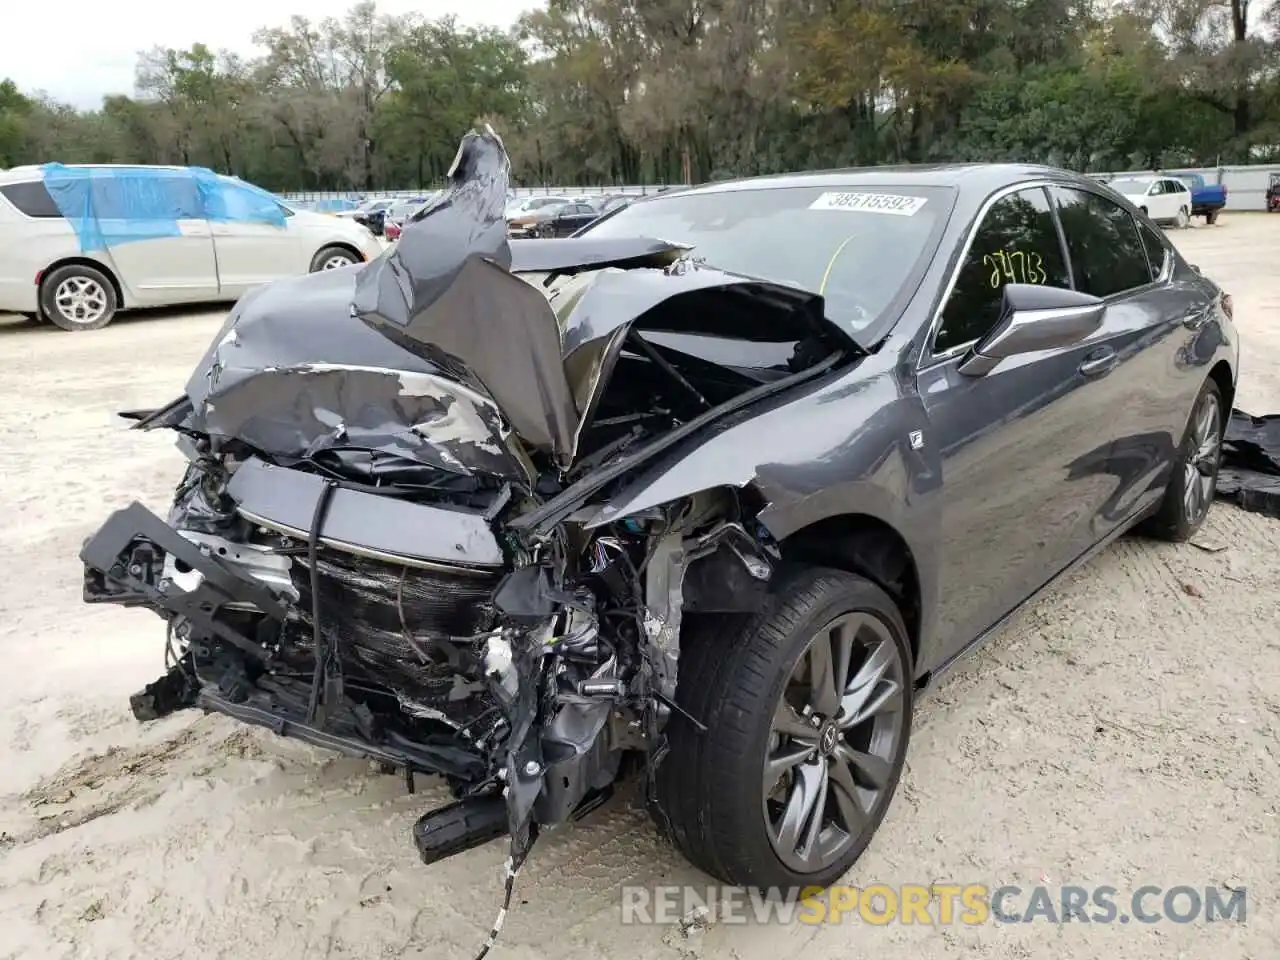
[[[64,210],[86,212],[68,219]],[[119,310],[236,301],[381,251],[366,227],[207,170],[0,170],[0,314],[64,330],[96,330]]]

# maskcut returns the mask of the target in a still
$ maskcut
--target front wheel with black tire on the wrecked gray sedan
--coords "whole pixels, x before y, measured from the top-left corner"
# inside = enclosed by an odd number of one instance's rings
[[[750,618],[692,620],[657,772],[655,819],[737,886],[828,887],[870,842],[901,777],[911,652],[892,598],[801,570]]]

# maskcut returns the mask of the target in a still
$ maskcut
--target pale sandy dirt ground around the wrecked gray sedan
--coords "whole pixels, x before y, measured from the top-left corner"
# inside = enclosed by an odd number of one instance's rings
[[[1280,218],[1175,241],[1235,297],[1239,406],[1280,411]],[[465,960],[504,844],[428,868],[426,778],[408,796],[223,718],[140,726],[160,623],[81,603],[82,539],[133,498],[163,508],[180,465],[113,413],[177,394],[221,316],[0,320],[0,957]],[[493,956],[1280,956],[1280,521],[1219,504],[1199,541],[1123,540],[925,700],[847,882],[1243,886],[1245,924],[623,927],[623,884],[708,881],[621,796],[539,842]]]

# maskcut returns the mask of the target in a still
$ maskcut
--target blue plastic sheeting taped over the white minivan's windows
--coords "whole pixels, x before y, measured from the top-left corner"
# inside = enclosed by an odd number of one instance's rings
[[[86,253],[178,237],[179,220],[284,227],[284,210],[270,193],[204,168],[45,164],[41,169],[49,196]]]

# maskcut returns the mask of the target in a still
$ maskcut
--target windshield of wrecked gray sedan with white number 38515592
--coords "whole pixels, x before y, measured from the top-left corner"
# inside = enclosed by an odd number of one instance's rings
[[[709,266],[820,293],[827,316],[869,326],[932,252],[950,187],[762,187],[673,193],[595,220],[591,237],[686,243]]]

